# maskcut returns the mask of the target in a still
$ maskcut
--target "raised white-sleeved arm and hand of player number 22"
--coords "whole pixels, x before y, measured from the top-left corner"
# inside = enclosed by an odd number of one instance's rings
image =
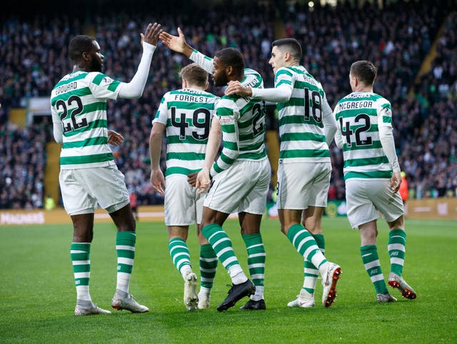
[[[151,59],[156,50],[157,40],[161,32],[160,24],[149,24],[144,34],[141,35],[141,44],[143,46],[143,55],[136,71],[136,74],[129,83],[121,83],[119,86],[119,97],[134,99],[143,94],[144,86],[149,76]]]

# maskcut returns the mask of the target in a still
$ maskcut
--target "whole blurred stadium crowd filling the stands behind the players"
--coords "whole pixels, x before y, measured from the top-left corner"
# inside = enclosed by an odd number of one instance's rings
[[[265,86],[273,86],[268,65],[273,28],[280,16],[286,36],[303,46],[303,65],[323,84],[333,107],[350,93],[348,69],[356,59],[369,59],[378,66],[375,92],[393,106],[393,126],[401,167],[406,172],[412,198],[456,196],[457,190],[457,51],[456,12],[428,1],[398,2],[378,9],[366,5],[356,9],[338,5],[284,7],[279,11],[256,5],[226,9],[195,9],[192,14],[154,11],[104,11],[91,22],[106,56],[105,73],[121,81],[136,71],[140,51],[137,41],[143,25],[158,21],[176,34],[181,26],[189,44],[208,56],[217,49],[234,46],[243,52],[246,66],[261,73]],[[251,7],[253,6],[253,7]],[[399,9],[398,6],[403,6]],[[141,13],[141,14],[139,14]],[[201,24],[201,19],[206,19]],[[431,71],[416,80],[421,64],[431,50],[438,30],[436,59]],[[51,123],[35,123],[25,129],[7,121],[9,108],[24,106],[23,98],[49,96],[51,88],[71,69],[67,46],[72,36],[84,31],[84,19],[40,14],[32,19],[11,17],[3,21],[0,34],[0,208],[43,206],[46,141]],[[149,183],[149,133],[151,119],[161,97],[180,88],[178,71],[188,64],[159,44],[154,54],[144,96],[136,101],[108,102],[109,128],[125,136],[113,148],[116,163],[135,191],[139,204],[163,199]],[[223,90],[209,87],[221,95]],[[276,129],[274,121],[271,129]],[[164,152],[165,149],[162,149]],[[329,199],[343,199],[341,151],[332,144],[333,173]],[[164,166],[164,156],[161,159]]]

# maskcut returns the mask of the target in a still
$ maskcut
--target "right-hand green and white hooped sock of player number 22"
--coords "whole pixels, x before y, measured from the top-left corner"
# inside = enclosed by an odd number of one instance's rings
[[[117,283],[116,290],[129,293],[131,270],[134,268],[136,233],[134,231],[117,232]]]

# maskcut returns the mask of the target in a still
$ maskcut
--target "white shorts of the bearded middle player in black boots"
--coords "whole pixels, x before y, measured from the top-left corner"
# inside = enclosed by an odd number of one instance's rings
[[[221,213],[261,215],[266,209],[271,168],[267,158],[261,161],[236,161],[211,182],[204,206]]]

